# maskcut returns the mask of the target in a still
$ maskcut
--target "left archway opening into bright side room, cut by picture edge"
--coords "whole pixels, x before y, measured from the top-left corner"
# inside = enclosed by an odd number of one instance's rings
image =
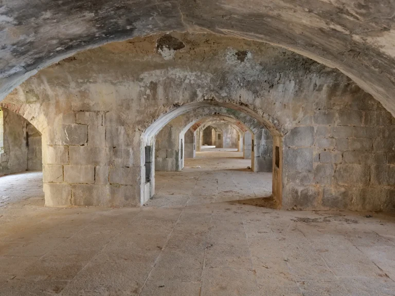
[[[0,106],[0,207],[28,199],[44,205],[42,135],[7,107]]]

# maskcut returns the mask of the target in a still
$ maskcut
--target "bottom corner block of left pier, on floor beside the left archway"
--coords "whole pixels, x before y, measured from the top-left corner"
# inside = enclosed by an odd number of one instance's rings
[[[71,186],[68,184],[44,183],[44,194],[47,207],[71,205]]]

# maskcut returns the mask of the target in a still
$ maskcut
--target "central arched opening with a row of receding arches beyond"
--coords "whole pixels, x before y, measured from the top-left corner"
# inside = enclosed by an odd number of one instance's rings
[[[206,109],[203,115],[187,112],[156,135],[155,172],[150,177],[155,194],[146,205],[174,207],[246,199],[272,204],[272,157],[265,171],[254,170],[256,159],[251,153],[244,158],[243,146],[244,132],[251,130],[234,117],[220,114],[225,113],[221,108],[201,108]],[[187,147],[188,132],[193,143]],[[271,142],[257,140],[257,151],[261,145],[272,149]],[[246,147],[251,150],[251,144]]]

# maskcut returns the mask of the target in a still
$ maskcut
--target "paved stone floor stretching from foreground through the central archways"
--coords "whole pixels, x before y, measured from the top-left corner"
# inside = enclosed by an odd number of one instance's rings
[[[0,207],[0,295],[395,294],[395,215],[240,204],[270,195],[246,163],[200,152],[141,208]]]

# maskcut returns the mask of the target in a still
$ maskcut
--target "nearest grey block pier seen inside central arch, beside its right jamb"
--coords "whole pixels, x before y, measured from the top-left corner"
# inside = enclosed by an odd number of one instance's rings
[[[260,129],[254,135],[255,172],[271,172],[273,170],[273,137],[267,129]]]

